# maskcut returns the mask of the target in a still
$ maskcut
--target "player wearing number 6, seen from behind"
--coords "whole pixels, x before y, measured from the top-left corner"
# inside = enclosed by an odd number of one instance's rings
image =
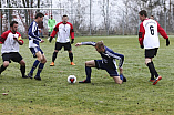
[[[166,46],[170,45],[170,40],[164,31],[164,29],[158,24],[157,21],[153,19],[147,19],[147,13],[145,10],[139,12],[140,20],[142,23],[140,24],[139,31],[139,42],[142,49],[145,49],[145,64],[151,73],[151,82],[155,85],[162,76],[160,76],[155,70],[152,59],[156,56],[157,50],[160,48],[160,40],[157,32],[166,39]],[[155,77],[154,77],[155,76]]]

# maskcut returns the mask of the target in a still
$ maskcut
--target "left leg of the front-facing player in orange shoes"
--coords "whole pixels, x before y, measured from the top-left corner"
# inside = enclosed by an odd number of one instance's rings
[[[55,42],[55,48],[54,48],[54,52],[52,54],[52,62],[50,64],[50,66],[54,66],[54,61],[57,59],[58,52],[62,49],[62,44],[59,42]]]

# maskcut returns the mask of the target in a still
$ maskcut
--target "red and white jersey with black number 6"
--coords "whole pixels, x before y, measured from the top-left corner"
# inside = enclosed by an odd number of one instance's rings
[[[140,24],[139,42],[140,45],[144,45],[144,49],[160,48],[158,33],[164,38],[168,39],[164,29],[158,24],[157,21],[152,19],[145,19]]]

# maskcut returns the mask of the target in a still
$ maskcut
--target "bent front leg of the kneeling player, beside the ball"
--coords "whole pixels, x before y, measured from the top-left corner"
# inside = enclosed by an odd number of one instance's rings
[[[85,62],[86,79],[84,81],[80,81],[79,83],[91,83],[91,73],[92,73],[91,67],[95,67],[95,61],[94,60]]]

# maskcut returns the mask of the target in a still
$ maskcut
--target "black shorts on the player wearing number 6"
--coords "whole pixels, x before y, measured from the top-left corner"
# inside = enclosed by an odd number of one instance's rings
[[[145,49],[145,58],[154,58],[157,54],[158,48],[155,49]]]

